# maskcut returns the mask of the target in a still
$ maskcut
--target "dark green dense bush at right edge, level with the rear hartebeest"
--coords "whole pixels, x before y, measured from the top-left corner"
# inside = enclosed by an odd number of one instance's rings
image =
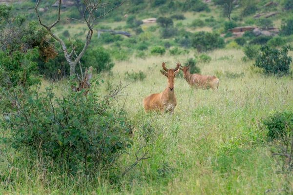
[[[261,47],[261,53],[255,60],[254,66],[260,67],[265,74],[277,74],[283,76],[289,74],[292,57],[288,57],[288,51],[293,50],[291,46],[283,47],[280,51],[267,45]]]

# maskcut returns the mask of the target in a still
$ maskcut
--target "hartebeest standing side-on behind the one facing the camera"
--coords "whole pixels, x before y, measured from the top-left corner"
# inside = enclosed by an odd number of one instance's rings
[[[181,66],[181,64],[180,64]],[[191,87],[201,88],[201,89],[209,89],[217,90],[219,86],[219,78],[211,75],[200,75],[197,73],[190,74],[188,66],[181,66],[180,70],[183,71],[183,76]]]

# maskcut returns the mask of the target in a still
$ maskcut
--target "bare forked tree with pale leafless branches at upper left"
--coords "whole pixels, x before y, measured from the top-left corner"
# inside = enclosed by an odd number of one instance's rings
[[[36,5],[35,5],[35,11],[37,13],[39,22],[43,27],[45,27],[47,29],[49,34],[60,43],[60,47],[61,47],[60,51],[63,51],[64,57],[70,66],[70,76],[75,76],[76,65],[79,63],[80,59],[83,57],[84,52],[86,51],[86,49],[88,47],[89,41],[92,38],[93,26],[94,26],[95,21],[104,17],[106,14],[108,14],[113,9],[116,9],[117,7],[121,6],[127,0],[122,0],[122,2],[120,4],[116,4],[115,7],[109,8],[107,11],[104,12],[104,14],[100,13],[99,9],[103,8],[105,10],[107,5],[111,5],[113,3],[110,3],[110,2],[102,3],[102,0],[84,0],[84,4],[85,4],[85,9],[84,9],[84,13],[83,13],[84,19],[78,20],[78,21],[84,23],[87,26],[88,31],[85,36],[84,48],[79,54],[76,54],[76,51],[75,51],[76,46],[74,46],[74,45],[71,45],[71,49],[70,49],[71,51],[69,52],[65,46],[63,39],[59,38],[57,35],[55,35],[52,32],[52,28],[60,21],[60,10],[61,10],[62,0],[59,0],[57,20],[50,25],[44,24],[40,18],[40,15],[38,12],[38,6],[40,4],[40,1],[41,0],[36,0]],[[98,12],[100,16],[96,17],[95,12]],[[77,20],[74,18],[69,18],[69,19]],[[75,57],[73,54],[75,54]]]

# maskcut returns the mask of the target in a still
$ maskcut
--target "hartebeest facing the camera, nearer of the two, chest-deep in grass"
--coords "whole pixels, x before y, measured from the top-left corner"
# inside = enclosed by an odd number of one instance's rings
[[[167,69],[165,62],[162,63],[163,69],[166,71],[160,71],[162,75],[167,77],[167,87],[161,93],[150,94],[143,100],[145,112],[149,110],[160,110],[161,112],[168,111],[172,113],[177,104],[174,94],[174,78],[179,72],[179,63],[176,68]]]

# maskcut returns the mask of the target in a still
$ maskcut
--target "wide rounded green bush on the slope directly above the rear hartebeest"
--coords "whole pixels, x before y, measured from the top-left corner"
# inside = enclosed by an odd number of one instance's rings
[[[225,41],[219,34],[205,31],[194,33],[191,42],[192,46],[199,52],[206,52],[225,46]]]

